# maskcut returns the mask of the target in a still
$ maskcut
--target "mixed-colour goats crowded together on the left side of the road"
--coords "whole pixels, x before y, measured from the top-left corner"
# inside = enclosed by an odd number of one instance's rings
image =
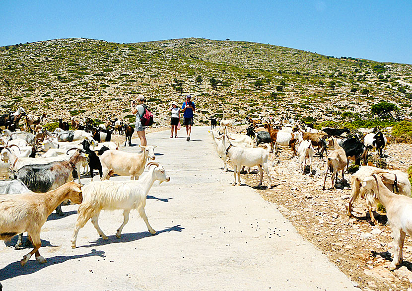
[[[19,130],[22,116],[26,117],[26,131]],[[116,233],[119,238],[133,209],[137,209],[149,232],[156,233],[144,212],[146,196],[154,181],[165,182],[170,177],[163,166],[152,161],[155,146],[140,146],[138,153],[119,150],[119,144],[110,141],[111,134],[123,132],[126,138],[130,136],[131,145],[134,129],[117,124],[117,120],[109,120],[110,124],[103,127],[96,127],[91,119],[83,123],[71,120],[69,130],[68,122],[60,119],[59,127],[50,132],[40,126],[45,115],[33,118],[35,122],[31,117],[19,108],[1,119],[0,177],[4,180],[0,181],[0,240],[18,235],[18,249],[23,232],[27,232],[26,246],[31,243],[33,249],[20,261],[21,266],[33,254],[39,263],[46,262],[39,253],[40,230],[54,210],[64,215],[63,203],[80,204],[71,239],[73,248],[79,229],[89,219],[98,234],[107,239],[98,225],[99,213],[105,209],[124,211],[124,221]],[[145,168],[148,172],[143,174]],[[99,172],[99,181],[93,181],[94,170]],[[91,182],[82,186],[80,175],[88,172]],[[110,180],[115,174],[130,176],[130,181]]]

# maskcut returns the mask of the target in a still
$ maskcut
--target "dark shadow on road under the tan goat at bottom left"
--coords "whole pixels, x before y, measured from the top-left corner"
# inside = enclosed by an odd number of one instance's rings
[[[99,256],[101,258],[105,257],[104,251],[98,251],[92,249],[90,253],[84,255],[75,255],[75,256],[55,256],[50,258],[45,258],[47,263],[39,264],[33,257],[27,262],[24,267],[21,267],[20,261],[13,262],[3,269],[0,270],[0,280],[11,279],[14,277],[22,276],[22,275],[29,275],[33,274],[41,269],[47,268],[49,266],[53,266],[56,264],[64,263],[69,260],[80,259],[85,257],[92,257],[92,256]]]

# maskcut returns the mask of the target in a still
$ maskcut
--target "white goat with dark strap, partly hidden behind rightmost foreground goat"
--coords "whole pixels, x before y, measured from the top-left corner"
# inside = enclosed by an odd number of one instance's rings
[[[372,176],[373,174],[378,174],[381,177],[382,182],[385,184],[386,188],[388,188],[392,192],[398,192],[398,194],[408,197],[411,197],[411,183],[409,182],[408,174],[405,172],[402,172],[400,170],[385,170],[371,166],[360,167],[359,170],[357,170],[357,172],[352,175],[352,177],[350,178],[352,193],[349,198],[349,207],[347,209],[347,214],[349,215],[349,217],[352,217],[352,205],[360,194],[360,197],[366,200],[371,223],[375,224],[377,223],[377,221],[373,216],[372,205],[375,203],[376,197],[370,191],[359,191],[362,181],[365,178]]]

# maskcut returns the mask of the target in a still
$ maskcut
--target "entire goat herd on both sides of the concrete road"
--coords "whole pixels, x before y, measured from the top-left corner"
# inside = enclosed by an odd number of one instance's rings
[[[19,130],[19,121],[23,116],[25,131]],[[71,120],[70,130],[69,123],[60,119],[59,127],[50,132],[40,126],[45,117],[45,114],[41,117],[26,115],[24,109],[19,108],[0,118],[0,127],[4,128],[0,137],[0,176],[4,177],[0,181],[0,240],[18,235],[15,247],[20,248],[22,233],[27,232],[26,244],[32,243],[33,249],[23,257],[21,265],[24,266],[33,254],[39,263],[46,262],[39,253],[40,229],[54,210],[63,215],[61,205],[68,201],[80,204],[71,239],[73,248],[76,247],[80,228],[89,219],[98,234],[107,239],[98,224],[100,211],[105,209],[124,211],[124,221],[117,229],[117,237],[121,237],[132,209],[137,209],[149,232],[154,234],[155,230],[144,212],[146,196],[154,181],[170,181],[163,166],[150,161],[155,159],[155,146],[140,146],[138,153],[119,150],[119,145],[111,142],[111,135],[114,132],[124,133],[125,146],[128,137],[131,145],[133,128],[118,120],[108,120],[105,125],[99,126],[92,119],[83,122]],[[351,207],[360,195],[366,199],[371,223],[374,223],[372,205],[380,201],[386,208],[394,237],[395,253],[389,268],[393,270],[402,263],[405,235],[412,234],[411,183],[405,172],[367,165],[369,150],[375,149],[384,157],[387,140],[379,128],[361,137],[348,129],[326,128],[317,131],[313,126],[285,118],[277,124],[251,118],[247,121],[250,126],[244,135],[230,132],[233,126],[231,120],[221,120],[220,127],[216,129],[217,122],[211,119],[211,134],[218,155],[224,162],[223,171],[227,171],[228,160],[233,164],[233,185],[241,184],[240,174],[244,167],[250,170],[257,166],[260,172],[258,186],[262,185],[265,172],[269,188],[272,187],[270,152],[260,144],[269,144],[271,152],[276,153],[278,146],[289,146],[292,155],[300,159],[301,173],[306,172],[308,165],[311,176],[312,159],[317,147],[320,159],[327,155],[323,189],[329,172],[332,172],[334,186],[340,171],[344,181],[343,173],[348,168],[348,160],[359,166],[362,160],[365,166],[361,166],[351,177],[348,215],[352,216]],[[145,168],[148,172],[142,175]],[[99,181],[93,181],[94,170],[99,172]],[[88,172],[91,182],[81,186],[81,174]],[[131,181],[110,180],[114,174],[130,176]],[[73,181],[74,178],[78,183]]]

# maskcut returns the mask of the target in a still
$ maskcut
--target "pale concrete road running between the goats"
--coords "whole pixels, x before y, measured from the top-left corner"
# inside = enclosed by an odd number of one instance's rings
[[[53,214],[42,229],[40,253],[48,263],[33,256],[22,268],[19,261],[29,250],[0,243],[3,290],[359,290],[296,233],[276,205],[247,185],[231,186],[233,174],[221,172],[207,130],[195,127],[191,142],[183,128],[179,139],[169,139],[170,132],[147,136],[171,177],[155,183],[147,197],[146,214],[157,235],[134,211],[118,239],[122,212],[104,211],[99,224],[109,239],[99,238],[89,221],[71,249],[77,206],[66,206],[68,216]]]

